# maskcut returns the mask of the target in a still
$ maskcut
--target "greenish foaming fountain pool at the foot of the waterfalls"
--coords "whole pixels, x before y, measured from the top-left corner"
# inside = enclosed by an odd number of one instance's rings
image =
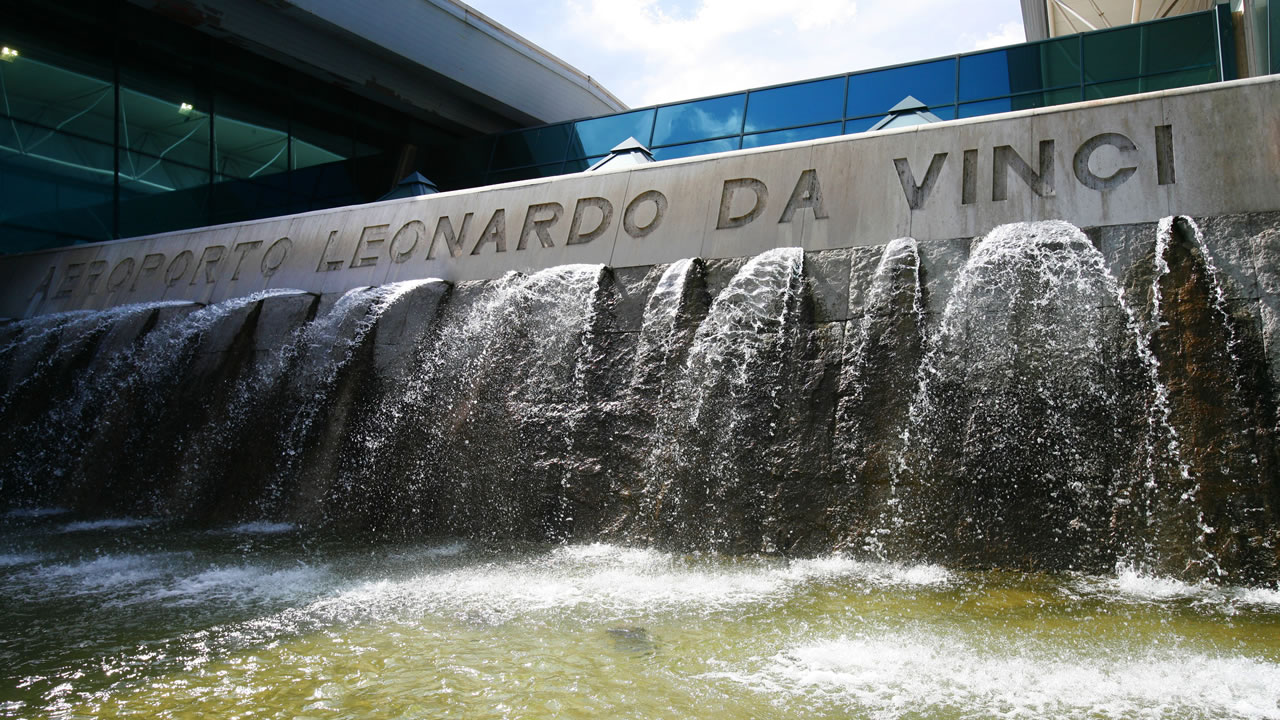
[[[1280,717],[1280,591],[0,519],[0,717]]]

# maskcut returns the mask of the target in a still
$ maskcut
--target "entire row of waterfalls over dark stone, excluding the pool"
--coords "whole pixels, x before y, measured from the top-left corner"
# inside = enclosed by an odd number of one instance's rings
[[[1206,227],[12,322],[0,503],[1272,582],[1262,291]]]

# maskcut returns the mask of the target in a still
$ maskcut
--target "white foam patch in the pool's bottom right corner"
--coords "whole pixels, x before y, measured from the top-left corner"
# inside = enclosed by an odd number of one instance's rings
[[[959,717],[1280,717],[1280,665],[1188,651],[1044,653],[1016,642],[980,648],[884,633],[805,644],[759,670],[716,675],[876,719],[957,708]]]

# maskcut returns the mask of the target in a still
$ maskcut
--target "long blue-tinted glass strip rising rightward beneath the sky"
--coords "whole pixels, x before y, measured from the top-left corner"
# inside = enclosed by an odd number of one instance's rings
[[[943,120],[1224,79],[1217,10],[559,123],[497,137],[493,164],[444,168],[440,187],[585,169],[627,137],[668,160],[870,129],[908,95]],[[1228,33],[1230,35],[1230,33]],[[1234,63],[1233,63],[1234,67]],[[1230,73],[1229,73],[1230,77]],[[545,137],[557,138],[554,142]],[[563,142],[561,138],[568,138]]]

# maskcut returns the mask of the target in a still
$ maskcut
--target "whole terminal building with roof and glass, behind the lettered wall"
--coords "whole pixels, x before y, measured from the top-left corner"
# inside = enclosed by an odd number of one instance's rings
[[[1115,8],[1112,8],[1112,5]],[[0,252],[1280,70],[1267,0],[1023,0],[1029,42],[630,109],[453,0],[17,0]],[[430,192],[419,182],[399,192]]]

